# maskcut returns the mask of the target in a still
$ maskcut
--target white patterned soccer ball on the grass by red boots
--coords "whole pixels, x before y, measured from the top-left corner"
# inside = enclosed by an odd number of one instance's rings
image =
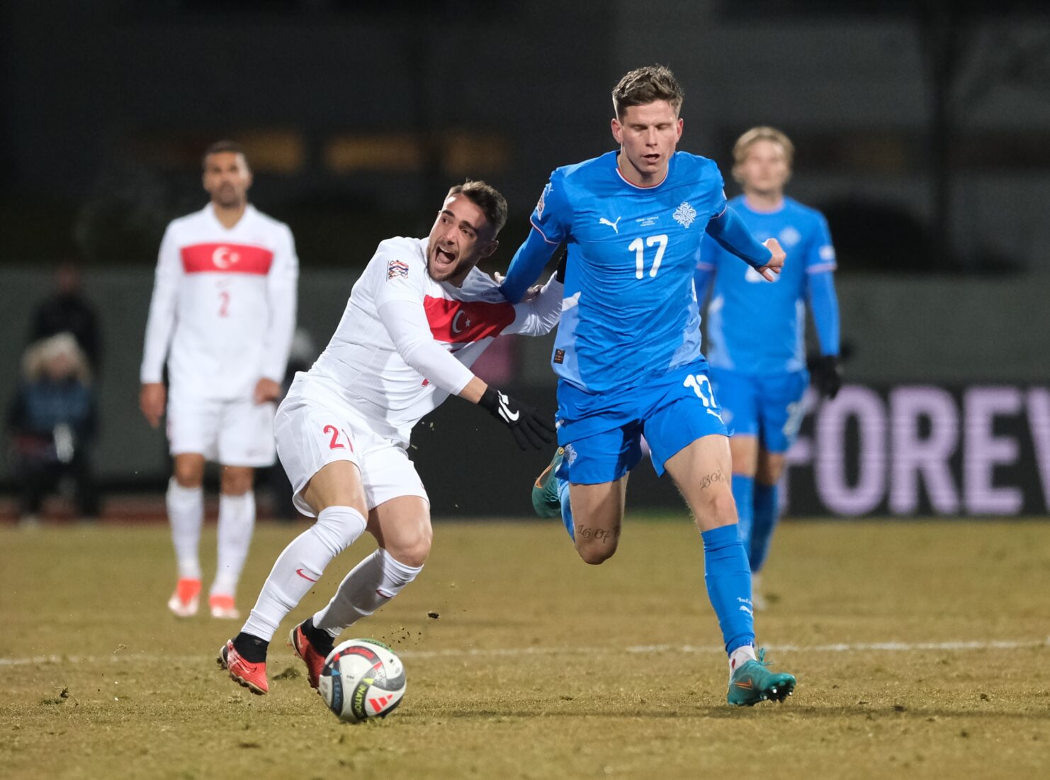
[[[375,639],[351,639],[324,659],[318,692],[340,720],[385,718],[404,696],[404,664]]]

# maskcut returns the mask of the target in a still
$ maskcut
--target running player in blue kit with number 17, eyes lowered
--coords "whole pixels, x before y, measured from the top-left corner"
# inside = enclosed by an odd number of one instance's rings
[[[759,244],[727,208],[714,162],[675,151],[682,94],[669,69],[632,70],[612,100],[618,150],[551,173],[503,283],[507,299],[520,301],[566,244],[551,358],[561,449],[533,501],[561,512],[585,561],[608,559],[645,434],[657,473],[671,474],[701,531],[708,595],[730,660],[729,702],[782,701],[795,678],[755,656],[751,570],[730,490],[729,437],[700,354],[693,271],[705,233],[770,281],[784,253],[776,239]]]

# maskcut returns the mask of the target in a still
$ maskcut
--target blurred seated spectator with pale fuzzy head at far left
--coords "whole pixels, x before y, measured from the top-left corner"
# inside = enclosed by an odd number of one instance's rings
[[[83,350],[69,333],[33,344],[7,418],[22,486],[22,522],[33,525],[44,495],[64,476],[75,485],[81,517],[98,515],[88,449],[94,438],[94,394]]]

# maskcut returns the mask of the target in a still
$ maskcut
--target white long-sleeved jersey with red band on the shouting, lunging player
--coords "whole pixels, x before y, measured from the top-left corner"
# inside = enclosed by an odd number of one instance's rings
[[[466,386],[474,376],[469,366],[496,336],[542,335],[558,323],[561,283],[552,279],[531,301],[512,305],[477,268],[461,287],[435,282],[426,271],[427,243],[397,238],[379,245],[328,348],[297,376],[290,395],[319,383],[378,434],[406,446],[420,418]],[[415,331],[411,347],[406,323]],[[437,355],[416,348],[435,345],[442,350]]]

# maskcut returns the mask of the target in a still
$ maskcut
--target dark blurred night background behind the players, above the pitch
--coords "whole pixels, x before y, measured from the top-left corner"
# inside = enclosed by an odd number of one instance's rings
[[[204,204],[210,142],[245,145],[253,202],[291,225],[319,350],[375,245],[424,234],[452,183],[506,194],[489,270],[505,267],[549,171],[612,148],[609,93],[652,62],[686,90],[679,148],[717,160],[731,196],[740,132],[794,141],[789,194],[825,212],[838,249],[850,383],[956,397],[1047,383],[1045,2],[5,0],[0,58],[0,404],[33,308],[76,261],[102,326],[96,463],[113,490],[165,478],[138,365],[160,237]],[[519,340],[503,360],[552,407],[548,356],[549,341]],[[1050,426],[1035,408],[1004,424],[1026,457]],[[527,498],[508,507],[489,487],[513,478],[525,495],[547,455],[511,452],[485,419],[463,435],[472,411],[439,410],[416,443],[435,513],[525,514]],[[462,472],[476,495],[446,490]],[[1045,512],[1025,473],[1026,511]],[[639,504],[677,500],[638,484]]]

